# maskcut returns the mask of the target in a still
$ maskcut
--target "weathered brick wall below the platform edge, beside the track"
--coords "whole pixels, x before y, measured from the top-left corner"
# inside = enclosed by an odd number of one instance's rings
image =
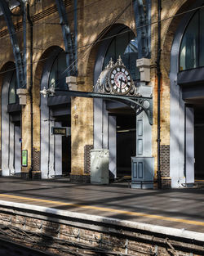
[[[20,209],[22,210],[22,209]],[[49,213],[0,208],[0,238],[57,255],[182,255],[204,254],[200,241],[122,226],[119,222],[73,219]],[[57,211],[55,211],[56,213]],[[67,214],[66,214],[67,216]],[[116,220],[115,220],[116,221]],[[122,221],[121,221],[122,222]],[[133,222],[134,223],[134,222]],[[181,242],[182,241],[182,242]]]

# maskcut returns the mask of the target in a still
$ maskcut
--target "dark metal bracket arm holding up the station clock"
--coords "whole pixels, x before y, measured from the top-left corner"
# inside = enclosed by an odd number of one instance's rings
[[[119,101],[126,104],[127,106],[131,106],[131,108],[135,110],[136,115],[139,115],[141,111],[144,111],[148,116],[149,124],[153,124],[153,99],[150,97],[121,96],[96,92],[78,92],[57,89],[55,89],[54,95],[67,95],[69,97],[100,98],[109,101]]]

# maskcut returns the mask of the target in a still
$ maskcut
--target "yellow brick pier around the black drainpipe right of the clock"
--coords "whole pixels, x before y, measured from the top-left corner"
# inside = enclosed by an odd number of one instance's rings
[[[161,55],[161,145],[170,145],[170,64],[171,46],[175,31],[183,16],[173,17],[186,10],[193,1],[162,1],[162,55]],[[155,174],[157,171],[157,3],[153,1],[152,6],[152,42],[151,42],[151,83],[153,84],[153,156],[155,158]]]

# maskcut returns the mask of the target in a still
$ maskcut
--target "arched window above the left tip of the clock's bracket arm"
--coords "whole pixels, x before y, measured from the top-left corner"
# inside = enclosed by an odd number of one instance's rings
[[[67,65],[66,65],[66,55],[65,52],[60,52],[60,54],[55,58],[53,65],[51,67],[51,74],[49,77],[49,88],[54,85],[55,88],[64,89],[67,88],[66,76],[67,76]]]

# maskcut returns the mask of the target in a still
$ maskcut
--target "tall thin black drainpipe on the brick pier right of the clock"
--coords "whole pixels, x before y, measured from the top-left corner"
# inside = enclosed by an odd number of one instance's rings
[[[161,60],[161,11],[162,11],[162,4],[161,0],[157,0],[157,13],[158,13],[158,26],[157,26],[157,182],[158,188],[162,188],[162,177],[161,177],[161,168],[160,168],[160,132],[161,132],[161,67],[160,67],[160,60]]]

